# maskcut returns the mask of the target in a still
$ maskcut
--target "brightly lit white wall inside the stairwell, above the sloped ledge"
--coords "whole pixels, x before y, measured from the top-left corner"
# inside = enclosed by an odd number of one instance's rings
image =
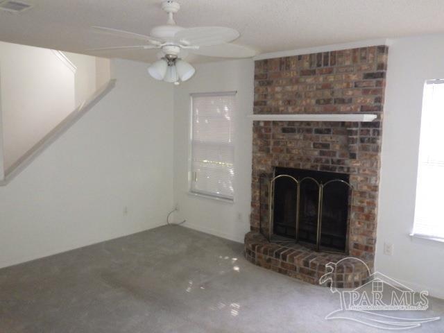
[[[49,49],[0,42],[7,170],[74,110],[74,72]]]

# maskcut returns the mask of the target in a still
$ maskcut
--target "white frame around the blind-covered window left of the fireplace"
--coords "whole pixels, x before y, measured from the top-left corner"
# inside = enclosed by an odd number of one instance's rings
[[[236,141],[237,141],[237,131],[236,131],[236,123],[234,119],[236,119],[237,110],[234,109],[233,116],[233,166],[234,166],[234,176],[233,176],[233,196],[223,196],[220,194],[213,194],[205,191],[196,191],[193,189],[193,131],[194,131],[194,123],[193,123],[193,98],[196,96],[234,96],[237,99],[237,90],[230,91],[221,91],[221,92],[192,92],[189,94],[189,135],[188,135],[188,194],[190,196],[196,196],[201,198],[209,198],[212,200],[218,200],[225,203],[234,203],[234,199],[236,197]],[[237,102],[237,101],[236,101]]]

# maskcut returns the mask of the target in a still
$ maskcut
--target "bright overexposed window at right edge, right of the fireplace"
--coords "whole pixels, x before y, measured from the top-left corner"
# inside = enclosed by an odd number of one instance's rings
[[[413,234],[444,239],[444,80],[425,83]]]

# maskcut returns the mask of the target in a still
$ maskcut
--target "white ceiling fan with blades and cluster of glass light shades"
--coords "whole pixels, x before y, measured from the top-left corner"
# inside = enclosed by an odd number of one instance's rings
[[[239,44],[230,44],[239,37],[239,32],[232,28],[222,26],[200,26],[195,28],[183,28],[176,25],[173,14],[178,12],[180,4],[173,0],[162,2],[162,10],[167,12],[167,24],[155,26],[150,35],[140,35],[130,31],[123,31],[103,26],[93,26],[99,33],[107,33],[120,37],[133,38],[146,42],[143,45],[101,47],[86,51],[105,51],[123,49],[142,49],[161,51],[157,53],[156,62],[148,67],[148,73],[156,80],[164,80],[169,83],[179,84],[194,75],[195,69],[183,60],[188,53],[200,56],[219,58],[250,58],[255,56],[255,51]]]

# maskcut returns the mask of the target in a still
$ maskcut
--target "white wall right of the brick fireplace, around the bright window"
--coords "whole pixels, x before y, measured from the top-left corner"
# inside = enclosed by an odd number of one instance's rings
[[[444,78],[444,36],[393,40],[388,49],[376,268],[444,298],[444,243],[412,239],[422,89]],[[384,242],[393,255],[384,255]]]

